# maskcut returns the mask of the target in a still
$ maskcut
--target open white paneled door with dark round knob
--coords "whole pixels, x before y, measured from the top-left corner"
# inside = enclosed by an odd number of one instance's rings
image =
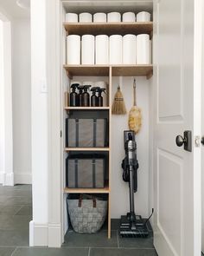
[[[201,1],[155,1],[154,245],[201,256]],[[195,47],[194,47],[195,46]],[[192,132],[192,152],[175,137]]]

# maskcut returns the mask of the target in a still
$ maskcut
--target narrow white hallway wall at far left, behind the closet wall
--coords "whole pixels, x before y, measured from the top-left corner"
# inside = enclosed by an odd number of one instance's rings
[[[31,183],[30,19],[12,22],[12,101],[15,183]]]

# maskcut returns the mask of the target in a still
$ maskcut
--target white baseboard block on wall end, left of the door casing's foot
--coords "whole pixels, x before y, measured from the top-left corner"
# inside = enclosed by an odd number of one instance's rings
[[[48,246],[48,224],[29,222],[29,246]]]

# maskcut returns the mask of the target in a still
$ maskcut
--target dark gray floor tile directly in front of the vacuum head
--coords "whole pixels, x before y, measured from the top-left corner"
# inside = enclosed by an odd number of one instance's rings
[[[122,238],[118,235],[119,247],[123,248],[143,248],[149,249],[154,248],[153,237],[150,235],[147,238]]]

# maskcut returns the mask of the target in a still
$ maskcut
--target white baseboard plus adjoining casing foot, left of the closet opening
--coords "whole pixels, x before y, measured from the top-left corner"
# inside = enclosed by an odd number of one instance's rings
[[[61,247],[60,224],[37,224],[29,222],[29,246]]]

